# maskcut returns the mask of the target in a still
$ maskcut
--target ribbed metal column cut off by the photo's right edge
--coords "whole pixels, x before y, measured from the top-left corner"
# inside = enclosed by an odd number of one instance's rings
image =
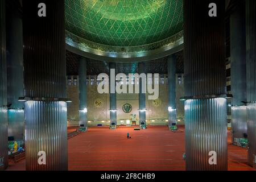
[[[256,168],[256,1],[246,0],[248,161]]]

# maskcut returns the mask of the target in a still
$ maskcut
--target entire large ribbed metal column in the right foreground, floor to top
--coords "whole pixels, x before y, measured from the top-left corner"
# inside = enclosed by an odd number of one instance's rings
[[[228,169],[224,14],[223,0],[184,0],[187,170]]]

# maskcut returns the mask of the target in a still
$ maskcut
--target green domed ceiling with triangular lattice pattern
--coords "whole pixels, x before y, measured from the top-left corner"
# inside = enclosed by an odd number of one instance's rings
[[[66,29],[109,46],[141,46],[183,30],[183,0],[65,0]]]

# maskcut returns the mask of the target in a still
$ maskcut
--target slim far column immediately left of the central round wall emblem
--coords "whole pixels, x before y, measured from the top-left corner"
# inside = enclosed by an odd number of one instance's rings
[[[116,65],[115,63],[109,63],[109,69],[115,69]],[[117,73],[115,73],[116,75]],[[110,91],[112,90],[113,93],[110,92],[109,94],[109,105],[110,105],[110,125],[112,123],[115,123],[117,125],[117,93],[115,92],[115,86],[112,88],[111,86],[111,80],[114,81],[115,85],[115,75],[110,74]]]

